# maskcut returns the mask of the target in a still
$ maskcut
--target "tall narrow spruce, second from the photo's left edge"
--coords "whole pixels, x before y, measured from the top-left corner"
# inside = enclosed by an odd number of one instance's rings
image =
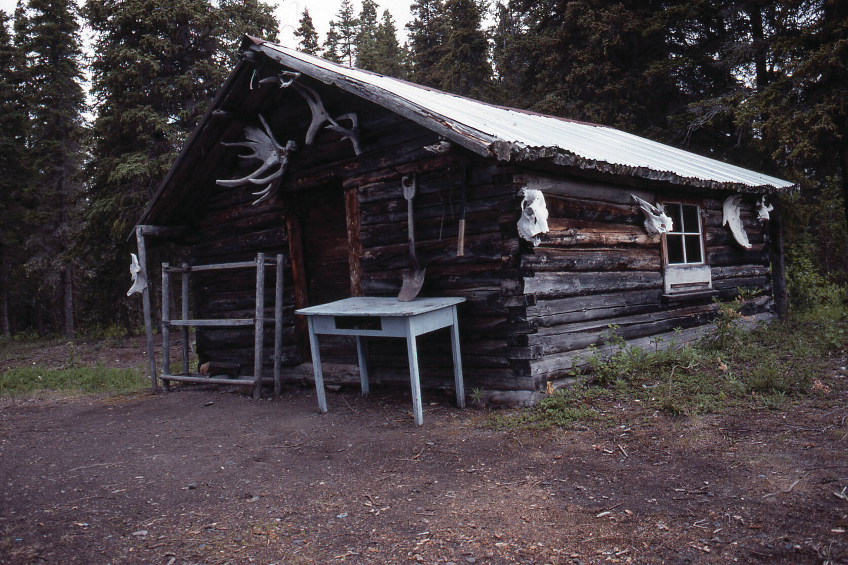
[[[73,271],[69,245],[79,231],[75,178],[82,159],[85,96],[81,80],[81,42],[73,0],[30,0],[21,22],[20,48],[26,58],[23,98],[30,115],[26,130],[31,202],[26,270],[36,278],[36,326],[42,309],[62,312],[68,338],[74,336]],[[23,31],[25,29],[25,32]],[[57,307],[57,306],[61,307]]]

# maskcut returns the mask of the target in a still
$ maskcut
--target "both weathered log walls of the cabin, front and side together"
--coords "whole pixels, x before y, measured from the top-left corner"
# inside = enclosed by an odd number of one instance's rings
[[[308,79],[302,79],[308,81]],[[545,382],[572,368],[572,355],[600,343],[610,325],[623,338],[664,333],[705,324],[715,315],[709,298],[663,300],[661,238],[644,231],[644,216],[630,195],[656,201],[684,198],[705,210],[707,263],[722,299],[738,288],[761,290],[750,313],[773,307],[767,231],[745,200],[742,220],[753,248],[744,250],[722,227],[727,194],[674,193],[667,189],[616,186],[515,171],[462,148],[432,154],[426,145],[438,137],[387,109],[311,82],[330,115],[355,112],[363,152],[349,140],[322,129],[304,146],[310,110],[293,89],[262,87],[228,98],[231,112],[208,154],[196,155],[194,169],[175,182],[191,183],[181,202],[188,225],[192,263],[249,260],[257,252],[286,258],[282,362],[310,361],[304,320],[294,310],[349,295],[396,295],[410,268],[406,200],[401,178],[417,175],[414,201],[417,255],[427,268],[422,296],[464,296],[460,344],[469,388],[544,389]],[[216,179],[244,176],[257,163],[243,164],[238,151],[220,142],[243,139],[243,126],[261,113],[282,143],[294,139],[286,174],[274,195],[253,205],[261,187],[220,187]],[[198,149],[199,151],[200,149]],[[466,174],[467,173],[467,174]],[[460,191],[466,185],[465,255],[456,256]],[[533,248],[518,238],[518,191],[541,189],[550,211],[550,232]],[[657,185],[659,186],[659,185]],[[665,192],[663,192],[665,190]],[[266,277],[265,316],[273,317],[274,277]],[[192,276],[198,317],[251,317],[254,272],[216,271]],[[201,362],[237,362],[252,367],[249,330],[198,329]],[[405,348],[397,340],[370,340],[371,377],[377,383],[407,383]],[[420,340],[422,384],[451,386],[452,360],[446,330]],[[265,331],[265,363],[273,351],[271,325]],[[355,363],[350,338],[322,337],[322,360]],[[284,372],[285,373],[285,372]],[[300,381],[302,372],[286,373]]]

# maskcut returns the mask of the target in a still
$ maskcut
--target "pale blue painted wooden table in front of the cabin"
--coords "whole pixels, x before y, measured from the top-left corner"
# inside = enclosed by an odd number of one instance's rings
[[[356,296],[296,310],[295,314],[306,316],[309,324],[312,365],[315,368],[315,389],[321,411],[326,412],[326,394],[324,394],[324,377],[321,372],[321,352],[318,350],[318,334],[352,335],[356,338],[363,396],[368,394],[368,368],[362,338],[406,338],[406,349],[410,359],[412,407],[416,424],[420,426],[423,417],[416,337],[442,327],[450,327],[450,340],[454,352],[456,406],[465,408],[466,394],[462,383],[462,361],[460,361],[460,329],[456,317],[456,305],[461,302],[465,302],[465,299],[421,298],[410,302],[400,302],[390,297]]]

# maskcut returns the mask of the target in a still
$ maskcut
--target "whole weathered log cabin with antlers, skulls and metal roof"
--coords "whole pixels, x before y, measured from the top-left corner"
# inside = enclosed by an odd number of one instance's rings
[[[421,296],[466,298],[466,389],[550,389],[610,327],[628,344],[692,338],[716,298],[743,289],[752,319],[784,309],[774,207],[790,182],[249,36],[241,55],[137,236],[186,246],[191,265],[282,255],[283,380],[311,375],[294,310],[399,293],[410,182]],[[192,317],[250,316],[252,277],[198,273]],[[262,307],[273,316],[271,301]],[[441,332],[419,342],[425,388],[453,383]],[[266,364],[273,341],[266,327]],[[370,341],[372,381],[408,383],[403,348]],[[350,338],[321,344],[326,363],[355,367]],[[249,367],[254,356],[253,334],[237,327],[200,327],[196,345],[201,363]]]

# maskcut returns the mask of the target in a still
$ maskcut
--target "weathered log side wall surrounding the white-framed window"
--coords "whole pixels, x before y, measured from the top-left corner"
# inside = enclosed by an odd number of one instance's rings
[[[773,308],[767,232],[751,210],[753,201],[742,212],[753,244],[745,250],[722,227],[722,201],[729,193],[649,192],[527,174],[515,181],[541,189],[550,212],[550,232],[522,254],[527,306],[516,308],[514,319],[528,330],[510,337],[511,346],[527,350],[527,360],[514,363],[516,373],[533,378],[537,389],[571,371],[572,352],[602,344],[601,334],[611,326],[630,340],[700,326],[716,314],[711,297],[662,298],[661,237],[645,232],[631,194],[650,202],[659,197],[699,203],[717,296],[733,299],[739,288],[756,290],[762,296],[750,300],[746,313]]]

